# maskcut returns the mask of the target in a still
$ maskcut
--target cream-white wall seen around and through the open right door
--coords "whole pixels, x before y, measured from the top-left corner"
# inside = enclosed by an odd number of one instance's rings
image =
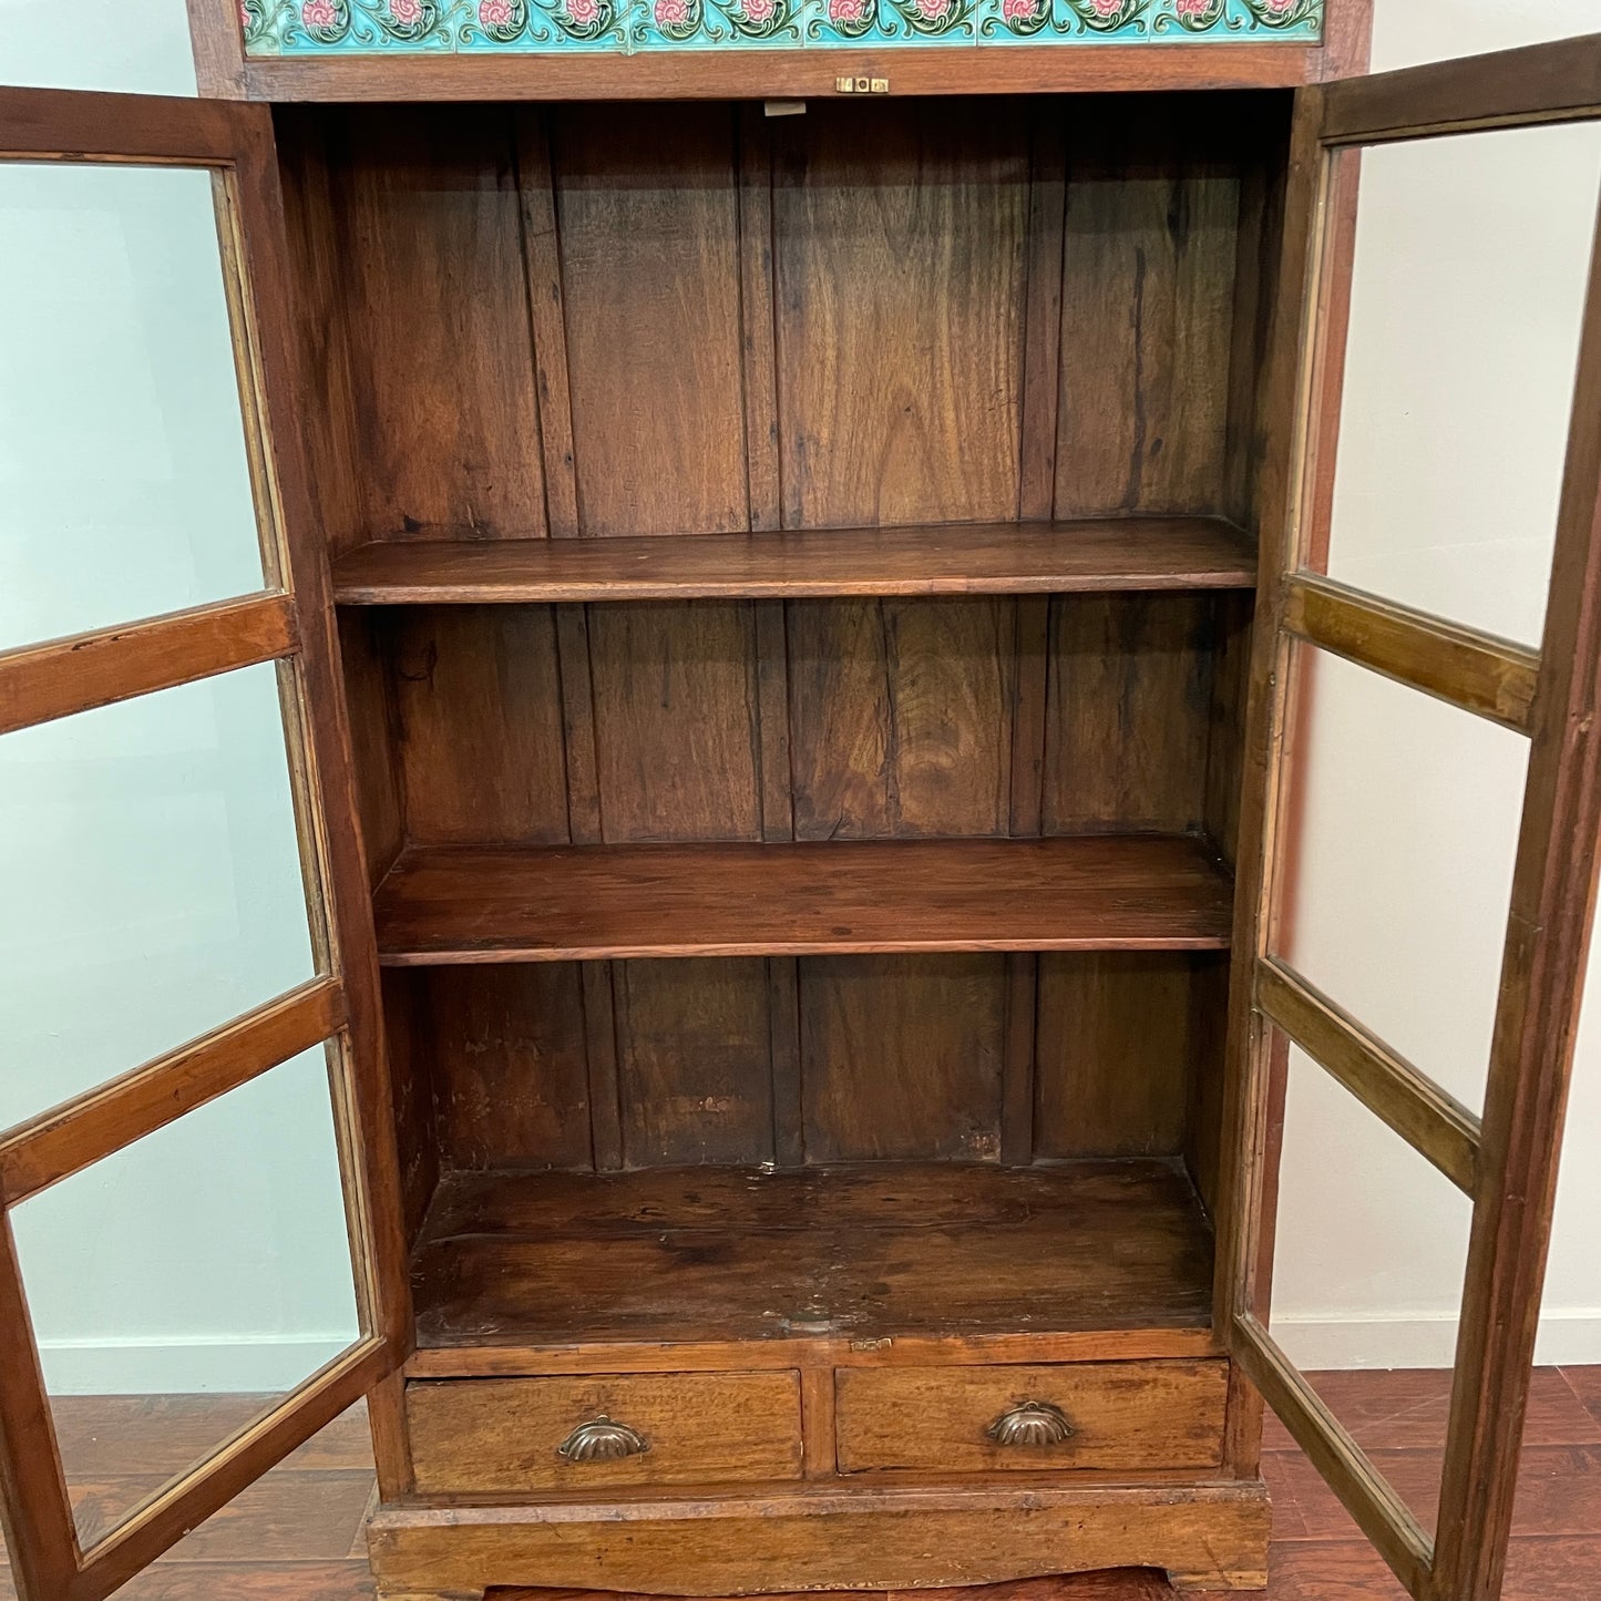
[[[1377,0],[1374,67],[1595,29],[1601,0]],[[1601,130],[1497,138],[1478,160],[1465,141],[1367,157],[1335,570],[1534,637]],[[1521,741],[1354,668],[1324,674],[1313,730],[1295,956],[1476,1106]],[[1274,1330],[1310,1367],[1449,1364],[1463,1199],[1314,1066],[1290,1073]],[[1598,1244],[1601,1004],[1580,1029],[1543,1361],[1601,1362]]]

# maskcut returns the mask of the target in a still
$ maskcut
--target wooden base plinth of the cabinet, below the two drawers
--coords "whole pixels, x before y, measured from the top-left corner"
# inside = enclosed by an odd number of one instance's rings
[[[735,1596],[1001,1583],[1158,1567],[1182,1588],[1266,1585],[1260,1481],[1116,1487],[829,1489],[719,1499],[381,1508],[384,1601],[496,1587]]]

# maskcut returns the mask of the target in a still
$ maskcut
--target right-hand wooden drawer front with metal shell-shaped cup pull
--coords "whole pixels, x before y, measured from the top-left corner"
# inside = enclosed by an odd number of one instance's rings
[[[839,1471],[1210,1468],[1228,1362],[842,1367]]]

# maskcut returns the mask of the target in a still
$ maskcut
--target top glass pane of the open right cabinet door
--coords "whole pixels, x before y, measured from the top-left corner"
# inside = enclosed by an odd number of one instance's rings
[[[1332,578],[1539,644],[1598,187],[1595,123],[1362,150]]]

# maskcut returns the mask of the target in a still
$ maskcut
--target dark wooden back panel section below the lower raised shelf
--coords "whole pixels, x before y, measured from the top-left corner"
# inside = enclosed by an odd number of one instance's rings
[[[1178,1156],[1207,1169],[1226,964],[1174,953],[540,962],[387,975],[410,1167]],[[1018,997],[1023,997],[1021,1001]],[[1026,1007],[1023,1026],[1010,1017]],[[410,1010],[403,1010],[410,1009]],[[612,1130],[618,1129],[620,1135]],[[1186,1150],[1188,1148],[1188,1150]],[[408,1167],[408,1170],[410,1170]]]

